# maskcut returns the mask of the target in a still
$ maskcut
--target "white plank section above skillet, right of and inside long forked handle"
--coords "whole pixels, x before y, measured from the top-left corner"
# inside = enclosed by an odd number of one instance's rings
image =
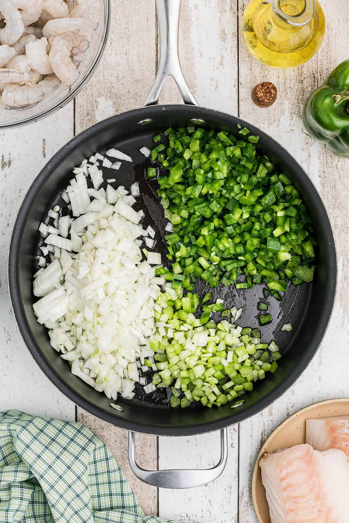
[[[183,0],[179,57],[186,81],[203,107],[238,112],[236,0]],[[183,103],[168,78],[159,103]]]

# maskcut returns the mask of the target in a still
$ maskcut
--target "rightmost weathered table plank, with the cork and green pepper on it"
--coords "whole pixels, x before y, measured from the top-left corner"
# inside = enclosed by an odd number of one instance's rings
[[[240,24],[246,5],[247,0],[239,0]],[[339,262],[339,289],[334,311],[317,355],[279,400],[240,424],[239,521],[244,523],[257,521],[251,503],[251,478],[257,454],[269,434],[299,408],[320,400],[347,395],[345,372],[341,376],[336,368],[337,362],[346,357],[349,330],[349,266],[346,228],[343,227],[349,195],[349,180],[346,176],[348,163],[310,138],[301,121],[301,111],[307,96],[324,82],[338,63],[347,58],[343,28],[348,24],[349,6],[345,0],[329,0],[322,2],[322,7],[327,20],[323,46],[308,63],[296,69],[277,70],[257,62],[247,52],[242,38],[240,39],[240,116],[271,134],[305,168],[327,207]],[[339,12],[341,17],[336,14]],[[263,81],[273,82],[278,89],[276,103],[267,109],[257,108],[251,100],[251,89]],[[342,333],[339,339],[338,333]],[[246,441],[249,442],[248,445]]]

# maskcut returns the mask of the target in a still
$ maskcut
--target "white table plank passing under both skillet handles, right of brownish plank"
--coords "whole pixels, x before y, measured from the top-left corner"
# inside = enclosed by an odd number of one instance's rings
[[[235,2],[184,0],[179,28],[184,76],[198,103],[238,111],[237,10]],[[169,81],[170,80],[170,81]],[[181,103],[171,78],[161,103]],[[228,431],[229,458],[221,477],[202,487],[159,489],[159,515],[185,523],[238,521],[237,427]],[[159,468],[208,468],[219,459],[219,432],[190,438],[159,438]]]

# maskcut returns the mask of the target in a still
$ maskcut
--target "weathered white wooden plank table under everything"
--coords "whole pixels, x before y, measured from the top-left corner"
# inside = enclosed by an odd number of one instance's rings
[[[349,340],[349,161],[336,158],[310,139],[301,123],[307,95],[348,58],[349,4],[347,0],[322,2],[327,35],[319,53],[297,69],[278,71],[254,60],[244,47],[241,18],[247,0],[182,1],[180,47],[189,86],[201,105],[239,115],[268,132],[307,170],[330,214],[339,260],[339,286],[330,326],[308,369],[265,411],[230,427],[229,460],[221,477],[199,488],[171,492],[161,488],[157,491],[136,480],[128,468],[126,431],[77,408],[44,376],[21,339],[7,290],[10,234],[20,203],[40,168],[74,133],[114,113],[141,106],[153,82],[158,50],[154,2],[118,0],[112,4],[104,57],[75,102],[29,127],[0,132],[0,410],[18,408],[38,415],[77,419],[91,427],[114,452],[147,514],[185,523],[255,523],[251,473],[264,440],[299,408],[349,395],[345,367]],[[262,81],[271,81],[278,89],[278,99],[268,109],[257,108],[251,100],[252,87]],[[171,81],[161,101],[180,101]],[[137,438],[138,461],[150,468],[212,466],[218,458],[218,446],[218,433],[190,438]]]

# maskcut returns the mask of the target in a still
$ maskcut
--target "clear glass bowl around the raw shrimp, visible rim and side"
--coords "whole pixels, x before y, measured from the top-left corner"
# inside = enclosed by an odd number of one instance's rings
[[[98,27],[91,33],[83,31],[89,41],[89,47],[83,53],[82,60],[78,66],[80,76],[73,85],[67,87],[63,84],[51,95],[45,97],[36,104],[23,108],[7,108],[1,101],[0,94],[0,129],[10,129],[24,126],[27,123],[35,122],[41,118],[46,118],[54,111],[64,107],[89,81],[102,58],[110,25],[110,0],[87,0],[88,18],[98,22]],[[35,24],[33,24],[35,25]]]

